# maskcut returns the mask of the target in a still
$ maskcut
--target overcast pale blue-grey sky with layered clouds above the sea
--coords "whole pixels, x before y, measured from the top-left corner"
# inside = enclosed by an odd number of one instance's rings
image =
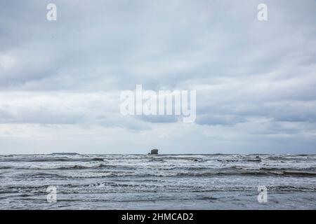
[[[195,123],[122,116],[136,84],[196,90]],[[316,153],[316,1],[0,1],[0,154],[151,148]]]

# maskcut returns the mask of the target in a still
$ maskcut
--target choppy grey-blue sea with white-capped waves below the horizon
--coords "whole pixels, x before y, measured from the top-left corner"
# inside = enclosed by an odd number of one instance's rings
[[[316,209],[316,155],[0,155],[0,209]]]

